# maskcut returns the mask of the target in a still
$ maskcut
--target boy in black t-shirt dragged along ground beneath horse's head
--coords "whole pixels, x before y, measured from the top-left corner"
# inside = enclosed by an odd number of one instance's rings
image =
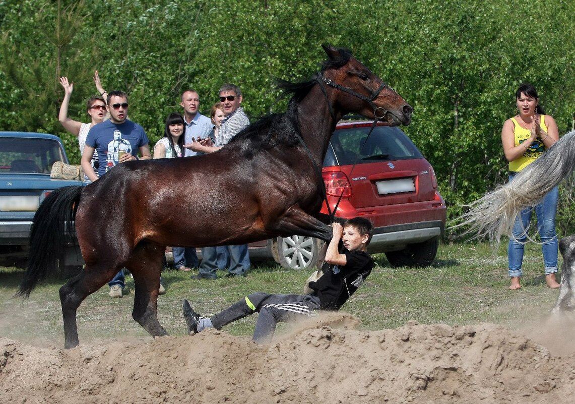
[[[354,218],[347,220],[343,227],[339,223],[333,223],[332,227],[333,237],[329,245],[324,245],[322,254],[325,254],[324,264],[331,264],[333,267],[325,270],[319,280],[309,283],[313,291],[311,294],[270,295],[255,292],[210,318],[201,317],[190,307],[187,300],[183,300],[183,317],[188,333],[196,334],[209,327],[219,330],[231,322],[258,312],[253,340],[258,344],[265,344],[271,341],[278,322],[293,322],[312,317],[316,315],[316,309],[339,310],[373,269],[373,259],[366,252],[373,226],[365,218]],[[338,250],[340,240],[345,248],[343,254]]]

